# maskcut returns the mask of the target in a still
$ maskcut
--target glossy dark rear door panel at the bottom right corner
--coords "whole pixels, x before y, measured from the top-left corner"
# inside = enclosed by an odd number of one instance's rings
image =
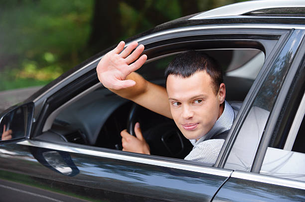
[[[233,172],[235,173],[235,172]],[[239,176],[245,175],[239,173]],[[258,174],[246,174],[251,180],[231,177],[216,194],[213,202],[304,202],[305,183],[289,180],[278,183],[279,180]],[[252,176],[251,176],[252,175]],[[234,176],[232,174],[232,176]],[[259,179],[266,182],[256,181]],[[285,182],[287,183],[285,185]],[[277,183],[278,185],[276,185]],[[299,188],[289,187],[291,184],[300,185]],[[282,185],[280,185],[282,184]],[[286,187],[287,186],[287,187]],[[303,189],[301,189],[303,187]]]

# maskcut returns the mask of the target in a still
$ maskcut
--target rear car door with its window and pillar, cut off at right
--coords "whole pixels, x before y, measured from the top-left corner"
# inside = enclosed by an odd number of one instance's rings
[[[238,132],[224,163],[234,171],[213,201],[305,201],[304,51],[304,32],[294,30]]]

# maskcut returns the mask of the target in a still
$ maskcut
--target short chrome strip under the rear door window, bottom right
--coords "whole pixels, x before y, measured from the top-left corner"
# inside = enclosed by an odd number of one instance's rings
[[[272,177],[272,176],[267,176],[267,175],[262,175],[262,174],[257,174],[257,173],[233,171],[233,173],[231,174],[231,177],[305,190],[305,182],[289,180],[289,179],[284,179],[284,178],[277,178],[277,177]]]

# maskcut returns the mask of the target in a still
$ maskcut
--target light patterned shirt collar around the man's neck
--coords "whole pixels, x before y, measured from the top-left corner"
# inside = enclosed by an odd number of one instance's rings
[[[206,134],[203,135],[196,141],[196,139],[190,139],[190,142],[195,145],[202,141],[211,139],[214,135],[221,134],[229,129],[231,129],[233,121],[234,121],[234,111],[227,101],[225,101],[224,110],[221,116],[217,119],[212,129]]]

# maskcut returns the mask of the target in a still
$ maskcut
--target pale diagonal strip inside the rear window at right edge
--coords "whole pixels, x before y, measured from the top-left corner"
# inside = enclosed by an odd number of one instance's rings
[[[300,126],[302,124],[304,114],[305,114],[305,93],[303,95],[303,98],[302,98],[302,101],[300,103],[299,109],[296,113],[294,122],[291,125],[291,129],[289,131],[287,140],[285,142],[284,150],[288,150],[288,151],[292,150],[292,148],[294,146],[294,143],[295,143],[295,140],[296,140],[296,137],[298,135]]]

